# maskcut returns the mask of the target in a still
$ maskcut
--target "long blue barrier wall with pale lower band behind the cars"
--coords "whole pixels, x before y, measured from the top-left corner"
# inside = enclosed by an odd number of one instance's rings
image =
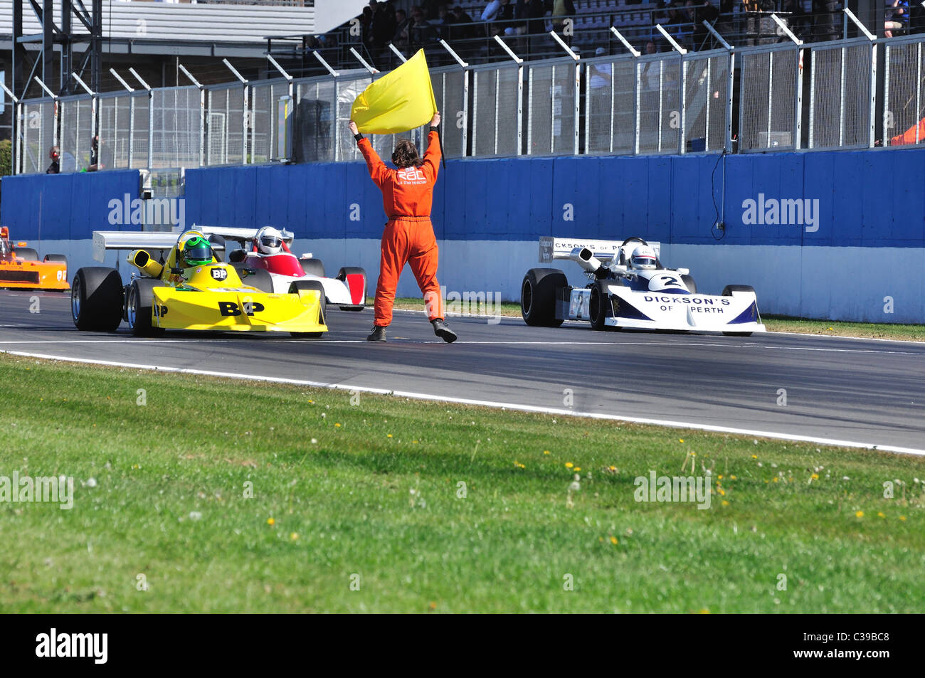
[[[690,267],[703,291],[753,285],[766,312],[925,322],[923,179],[925,148],[453,160],[434,196],[439,277],[450,290],[517,299],[539,236],[640,235],[662,243],[668,265]],[[77,242],[113,228],[109,201],[138,188],[136,171],[5,178],[0,221],[16,239],[51,240],[72,268],[91,265]],[[744,203],[762,199],[809,201],[814,223],[745,223]],[[332,273],[362,265],[375,280],[386,216],[363,163],[190,169],[185,201],[186,226],[288,228],[297,251]],[[583,283],[577,266],[562,268]],[[404,278],[399,294],[415,294]]]

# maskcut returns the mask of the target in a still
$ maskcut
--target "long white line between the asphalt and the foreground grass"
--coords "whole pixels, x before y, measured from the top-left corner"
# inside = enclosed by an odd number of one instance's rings
[[[833,438],[818,438],[815,436],[798,436],[788,433],[774,433],[772,431],[758,431],[748,428],[733,428],[730,426],[717,426],[708,424],[693,424],[691,422],[679,422],[666,419],[648,419],[646,417],[619,416],[617,414],[601,414],[588,412],[573,412],[572,410],[562,410],[552,407],[539,407],[537,405],[524,405],[514,402],[497,402],[497,401],[479,401],[470,398],[453,398],[451,396],[438,396],[429,393],[415,393],[413,391],[388,390],[388,388],[372,388],[363,386],[350,386],[348,384],[324,383],[320,381],[310,381],[307,379],[290,379],[278,376],[259,376],[259,375],[240,375],[230,372],[215,372],[212,370],[195,370],[185,367],[162,367],[151,364],[134,364],[120,363],[117,361],[92,360],[87,358],[71,358],[57,355],[45,355],[42,353],[27,353],[24,351],[4,351],[9,355],[17,355],[23,358],[43,358],[45,360],[60,360],[67,363],[82,364],[103,364],[113,367],[128,367],[130,369],[150,370],[153,372],[170,372],[183,375],[199,376],[218,376],[226,379],[240,379],[246,381],[263,381],[274,384],[291,384],[295,386],[308,386],[313,388],[337,388],[339,390],[360,391],[363,393],[377,393],[380,395],[393,395],[398,398],[409,398],[419,401],[438,401],[452,402],[460,405],[478,405],[482,407],[491,407],[500,410],[514,410],[517,412],[530,412],[542,414],[556,414],[557,416],[575,416],[587,417],[589,419],[604,419],[608,421],[629,422],[632,424],[648,424],[658,426],[671,426],[672,428],[686,428],[700,431],[711,431],[714,433],[732,433],[740,436],[760,436],[761,438],[773,438],[777,440],[793,440],[796,442],[811,442],[818,445],[832,445],[841,448],[860,448],[865,450],[878,450],[886,452],[898,452],[901,454],[913,454],[925,456],[925,450],[915,448],[903,448],[894,445],[877,445],[873,443],[857,442],[854,440],[837,440]]]

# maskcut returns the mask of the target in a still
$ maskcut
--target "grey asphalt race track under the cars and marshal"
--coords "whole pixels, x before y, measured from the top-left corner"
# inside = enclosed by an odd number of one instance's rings
[[[31,313],[33,296],[39,313]],[[332,310],[323,339],[136,339],[124,325],[116,334],[79,332],[68,294],[0,291],[0,351],[925,453],[925,343],[594,332],[457,317],[450,325],[460,340],[447,345],[423,314],[397,311],[388,343],[369,344],[372,319],[371,310]]]

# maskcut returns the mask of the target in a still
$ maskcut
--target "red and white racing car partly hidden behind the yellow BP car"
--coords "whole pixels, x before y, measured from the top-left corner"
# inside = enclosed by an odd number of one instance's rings
[[[263,269],[273,281],[273,290],[285,294],[297,280],[316,280],[325,290],[325,302],[342,311],[362,311],[366,306],[366,272],[344,266],[337,277],[325,277],[325,265],[310,253],[297,257],[290,252],[293,235],[273,227],[226,228],[195,226],[209,240],[233,240],[241,249],[228,252],[228,263],[236,268]],[[224,242],[223,242],[224,243]]]

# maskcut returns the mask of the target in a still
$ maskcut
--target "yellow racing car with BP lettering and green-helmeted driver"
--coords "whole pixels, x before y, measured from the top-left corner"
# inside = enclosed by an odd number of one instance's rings
[[[78,329],[115,332],[125,320],[137,336],[165,329],[289,332],[308,338],[327,332],[321,283],[297,280],[288,293],[274,293],[266,271],[222,263],[216,252],[224,250],[224,242],[208,240],[200,231],[179,237],[94,231],[93,250],[98,261],[106,250],[130,250],[128,262],[138,272],[123,286],[115,268],[80,268],[71,284]]]

